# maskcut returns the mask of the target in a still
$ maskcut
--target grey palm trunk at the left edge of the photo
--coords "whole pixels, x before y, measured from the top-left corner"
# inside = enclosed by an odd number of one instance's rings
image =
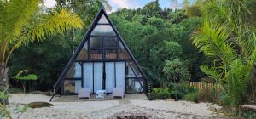
[[[8,94],[9,89],[9,77],[8,77],[9,69],[6,68],[5,64],[0,64],[0,91],[4,94]],[[8,98],[0,99],[0,103],[3,105],[8,104]]]

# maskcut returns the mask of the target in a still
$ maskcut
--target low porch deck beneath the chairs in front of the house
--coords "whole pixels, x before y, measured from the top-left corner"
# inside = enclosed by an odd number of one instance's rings
[[[145,94],[125,94],[124,99],[146,99],[148,100]],[[54,99],[53,102],[80,102],[80,101],[103,101],[103,100],[122,100],[121,98],[113,98],[112,94],[107,94],[105,99],[96,99],[95,94],[90,95],[90,99],[78,99],[78,95],[63,95]]]

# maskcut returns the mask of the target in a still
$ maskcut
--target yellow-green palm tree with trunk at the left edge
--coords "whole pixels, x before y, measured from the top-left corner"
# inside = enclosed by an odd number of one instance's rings
[[[40,11],[40,3],[41,0],[0,0],[0,86],[4,92],[9,88],[9,57],[16,48],[83,26],[78,15],[64,9]]]

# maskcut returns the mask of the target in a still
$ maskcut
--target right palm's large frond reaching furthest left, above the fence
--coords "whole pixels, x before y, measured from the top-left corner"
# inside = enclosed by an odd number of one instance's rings
[[[215,26],[205,20],[199,33],[192,37],[193,44],[207,56],[218,57],[228,62],[236,56],[231,44],[227,42],[229,34],[230,32],[226,31],[224,26]]]

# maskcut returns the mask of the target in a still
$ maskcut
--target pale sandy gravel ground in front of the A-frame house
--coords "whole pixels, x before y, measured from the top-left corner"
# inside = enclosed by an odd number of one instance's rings
[[[9,110],[15,105],[24,105],[29,102],[49,102],[50,96],[41,94],[11,94]],[[38,109],[29,109],[21,119],[82,119],[82,118],[116,118],[122,115],[144,115],[148,118],[214,118],[211,108],[218,105],[207,103],[191,103],[186,101],[165,101],[145,99],[123,99],[108,101],[84,102],[51,102],[54,106]],[[15,114],[13,114],[16,116]]]

